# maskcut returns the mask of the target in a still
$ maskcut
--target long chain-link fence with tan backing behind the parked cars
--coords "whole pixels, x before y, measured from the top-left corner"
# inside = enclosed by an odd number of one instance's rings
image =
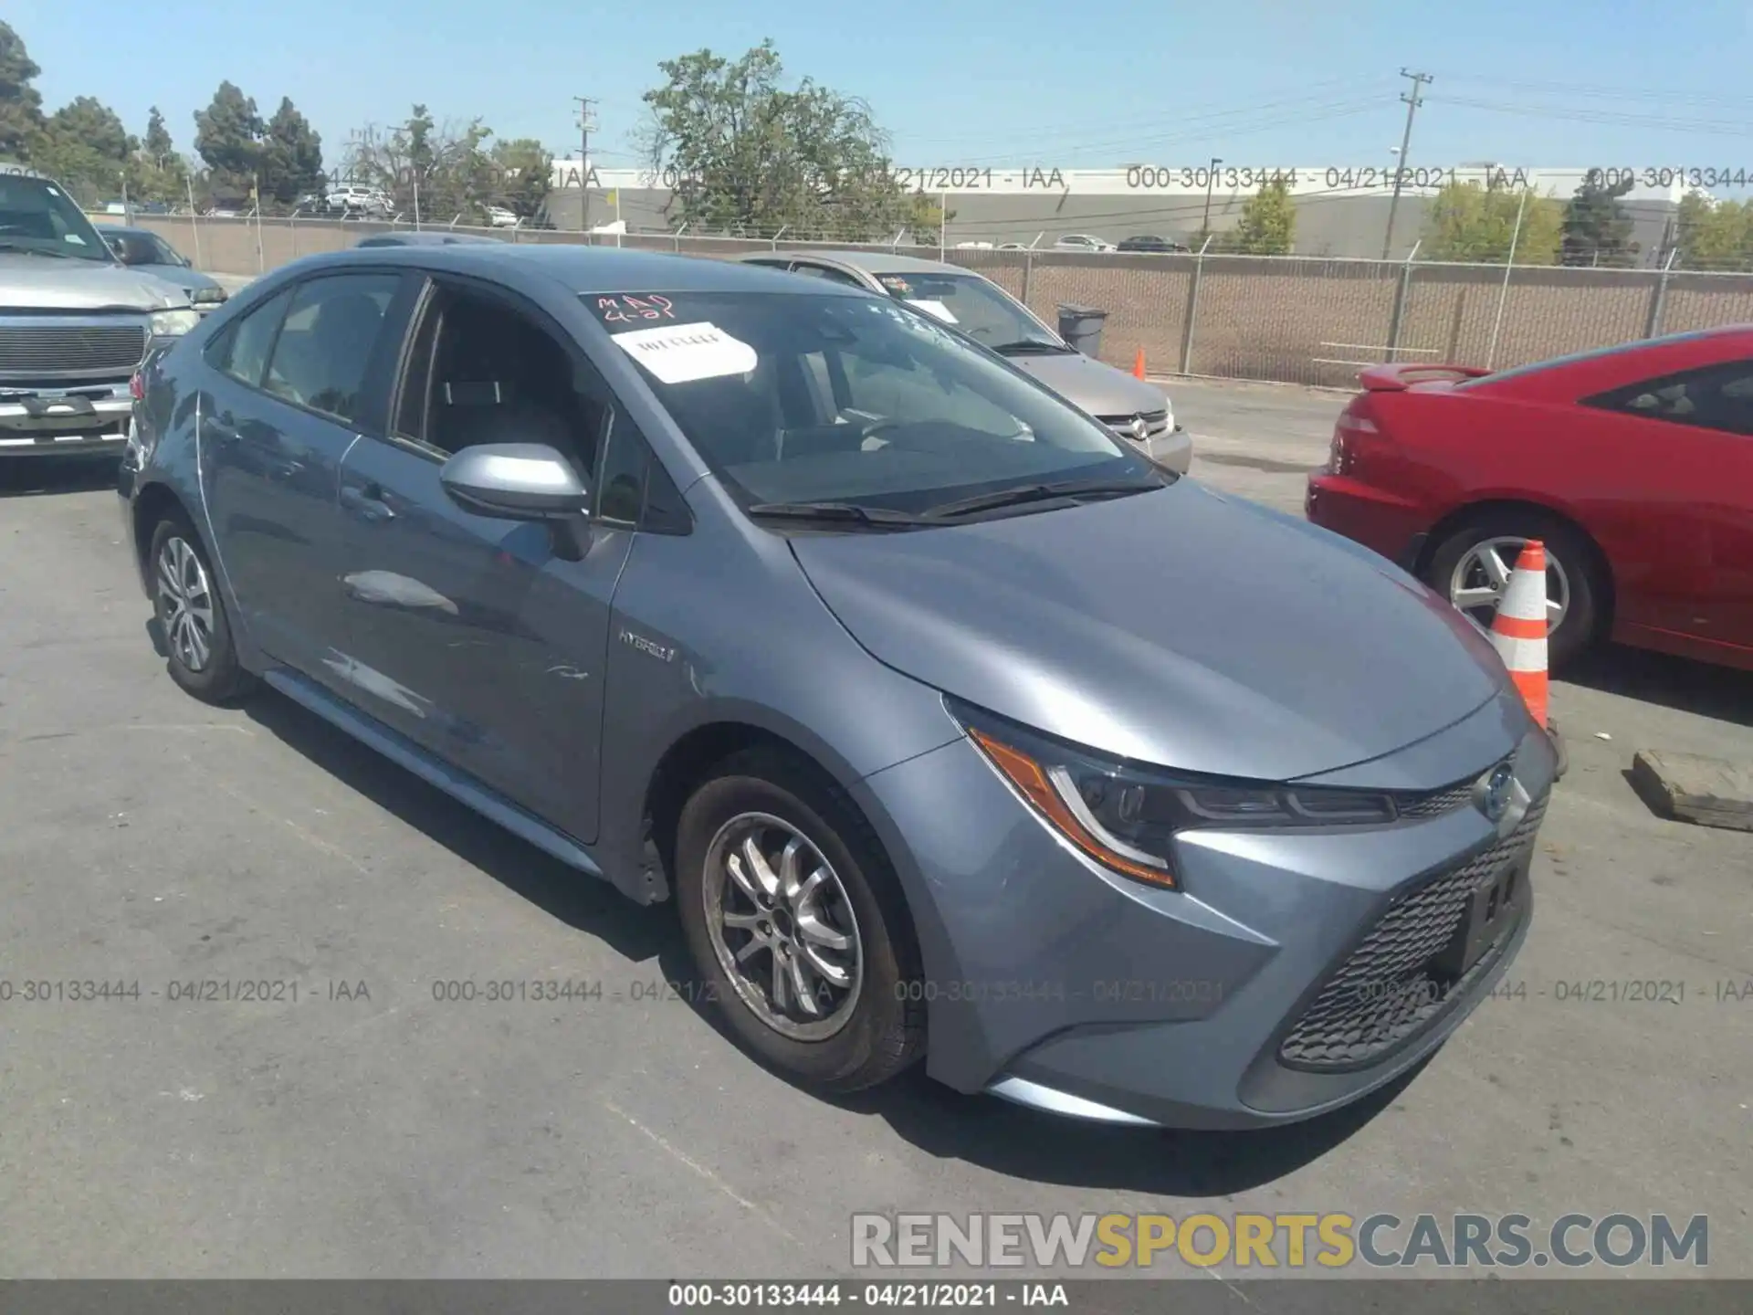
[[[214,274],[261,274],[408,224],[137,216]],[[442,228],[442,226],[440,226]],[[528,228],[449,231],[731,258],[850,244]],[[782,235],[780,235],[782,238]],[[1639,337],[1753,321],[1753,274],[1308,256],[1080,254],[866,245],[978,270],[1048,323],[1061,303],[1108,312],[1103,356],[1150,373],[1348,387],[1380,361],[1506,368]]]

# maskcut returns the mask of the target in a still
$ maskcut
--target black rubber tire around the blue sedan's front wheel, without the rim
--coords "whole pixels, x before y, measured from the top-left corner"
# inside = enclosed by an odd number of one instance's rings
[[[708,871],[708,859],[720,831],[750,814],[780,819],[813,845],[840,878],[855,917],[859,991],[840,1029],[819,1040],[794,1040],[770,1026],[731,980],[713,943],[708,894],[712,887],[727,889],[727,882]],[[875,1087],[924,1054],[922,970],[906,901],[869,824],[822,771],[773,749],[727,757],[684,805],[675,863],[682,929],[705,985],[696,998],[719,1010],[745,1050],[787,1078],[826,1092]],[[724,935],[726,943],[729,935],[735,933]],[[757,950],[750,963],[771,966],[773,956],[775,950]],[[771,992],[764,994],[771,1006]]]

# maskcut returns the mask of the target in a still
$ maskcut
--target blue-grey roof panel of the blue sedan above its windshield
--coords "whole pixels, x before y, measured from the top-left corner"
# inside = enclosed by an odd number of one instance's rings
[[[458,242],[419,247],[351,247],[298,261],[300,270],[317,272],[347,265],[393,261],[493,277],[500,272],[540,272],[573,293],[817,293],[861,296],[854,288],[805,281],[778,270],[712,256],[678,256],[668,251],[628,251],[582,242]],[[291,267],[286,267],[291,268]]]

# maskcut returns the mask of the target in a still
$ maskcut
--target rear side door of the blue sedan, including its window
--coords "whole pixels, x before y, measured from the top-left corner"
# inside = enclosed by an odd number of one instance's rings
[[[403,288],[387,270],[305,279],[207,349],[200,463],[223,570],[263,650],[319,680],[340,640],[340,461],[382,424]]]

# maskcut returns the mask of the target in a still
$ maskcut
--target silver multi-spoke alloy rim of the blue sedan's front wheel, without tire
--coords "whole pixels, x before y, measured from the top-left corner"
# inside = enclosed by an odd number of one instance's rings
[[[706,847],[701,898],[713,954],[750,1013],[796,1041],[845,1027],[864,947],[847,887],[808,836],[771,814],[738,814]]]

